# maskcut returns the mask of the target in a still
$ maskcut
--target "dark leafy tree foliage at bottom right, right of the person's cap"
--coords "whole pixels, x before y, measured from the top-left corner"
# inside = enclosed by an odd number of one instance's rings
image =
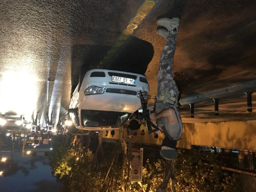
[[[206,166],[205,163],[208,165]],[[192,150],[181,149],[175,166],[177,192],[242,191],[239,174],[223,171],[217,156],[213,154],[200,154]]]

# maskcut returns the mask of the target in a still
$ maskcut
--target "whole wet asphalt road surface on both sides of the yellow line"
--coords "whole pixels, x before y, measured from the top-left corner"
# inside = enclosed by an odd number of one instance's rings
[[[0,112],[28,120],[66,113],[82,65],[96,68],[109,56],[140,10],[139,1],[7,1],[0,7]],[[147,1],[145,18],[105,68],[145,73],[150,94],[164,38],[156,20],[180,17],[174,73],[181,97],[254,80],[255,1]],[[186,116],[186,114],[185,114]],[[230,117],[231,118],[231,117]],[[206,118],[207,119],[207,118]]]

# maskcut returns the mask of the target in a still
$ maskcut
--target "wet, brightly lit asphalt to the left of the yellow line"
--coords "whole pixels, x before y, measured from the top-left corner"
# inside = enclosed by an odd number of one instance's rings
[[[68,109],[80,66],[98,66],[142,3],[3,1],[1,113],[27,120],[38,113],[44,124],[45,114],[53,112],[56,124]]]

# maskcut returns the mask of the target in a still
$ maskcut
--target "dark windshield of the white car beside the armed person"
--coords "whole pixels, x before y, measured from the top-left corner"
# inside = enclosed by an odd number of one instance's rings
[[[87,127],[119,128],[132,113],[116,111],[81,110],[81,122]]]

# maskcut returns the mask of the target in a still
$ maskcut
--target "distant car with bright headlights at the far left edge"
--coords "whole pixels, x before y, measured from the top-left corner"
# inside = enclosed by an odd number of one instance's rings
[[[19,131],[25,118],[21,115],[0,114],[0,126],[7,131]]]

